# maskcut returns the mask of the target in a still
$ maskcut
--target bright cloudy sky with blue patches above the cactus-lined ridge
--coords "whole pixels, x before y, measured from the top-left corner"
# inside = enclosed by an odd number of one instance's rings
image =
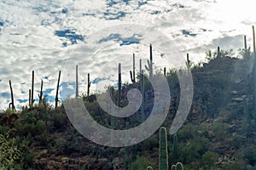
[[[34,98],[40,82],[44,95],[55,99],[58,71],[62,95],[73,97],[75,65],[79,65],[79,94],[101,92],[117,81],[122,63],[123,82],[131,82],[132,54],[143,65],[148,59],[147,38],[152,38],[154,65],[166,66],[161,48],[193,62],[205,59],[208,49],[243,48],[243,36],[252,46],[256,23],[253,1],[230,0],[0,0],[0,110],[10,102],[9,80],[15,105],[27,105],[35,71]],[[134,26],[121,30],[125,25]],[[169,42],[155,36],[159,32]],[[168,63],[168,65],[172,65]],[[160,68],[160,67],[159,67]],[[61,95],[61,94],[60,94]]]

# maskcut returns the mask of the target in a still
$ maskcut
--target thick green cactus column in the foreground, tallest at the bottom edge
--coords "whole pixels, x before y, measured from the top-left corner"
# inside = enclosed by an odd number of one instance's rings
[[[168,170],[168,150],[166,127],[160,127],[160,150],[159,150],[159,170]]]

